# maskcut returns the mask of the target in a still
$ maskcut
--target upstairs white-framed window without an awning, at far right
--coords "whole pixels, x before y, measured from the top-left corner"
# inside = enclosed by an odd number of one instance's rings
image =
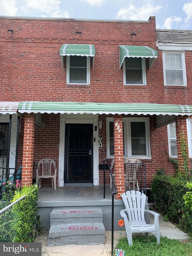
[[[164,84],[186,86],[185,61],[183,52],[164,52]]]

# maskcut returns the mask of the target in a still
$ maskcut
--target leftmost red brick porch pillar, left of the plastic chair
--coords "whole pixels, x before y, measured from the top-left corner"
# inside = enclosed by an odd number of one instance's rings
[[[25,114],[24,138],[23,138],[23,159],[22,159],[22,186],[32,185],[33,178],[33,156],[35,124],[34,114]]]

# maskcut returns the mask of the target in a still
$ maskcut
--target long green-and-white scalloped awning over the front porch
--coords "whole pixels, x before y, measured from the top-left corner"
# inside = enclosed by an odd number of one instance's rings
[[[124,115],[174,115],[191,116],[190,105],[148,104],[148,103],[92,103],[26,101],[18,104],[19,113],[67,113],[67,114],[124,114]]]

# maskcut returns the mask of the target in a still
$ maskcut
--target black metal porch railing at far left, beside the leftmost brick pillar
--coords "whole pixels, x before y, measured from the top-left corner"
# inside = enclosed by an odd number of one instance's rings
[[[22,167],[20,168],[8,168],[1,167],[0,168],[0,199],[2,199],[2,195],[6,193],[6,183],[7,181],[11,182],[10,185],[18,185],[20,186],[22,176]]]

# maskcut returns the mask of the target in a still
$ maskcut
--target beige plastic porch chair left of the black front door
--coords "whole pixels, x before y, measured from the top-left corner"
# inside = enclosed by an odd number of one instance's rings
[[[53,165],[53,168],[52,168],[52,165]],[[40,167],[42,167],[41,174],[39,174]],[[51,174],[52,169],[54,169],[54,174]],[[56,173],[57,173],[57,168],[56,168],[55,161],[53,159],[51,158],[41,159],[38,162],[37,169],[36,169],[36,174],[37,174],[36,184],[38,186],[41,186],[41,179],[51,178],[52,188],[54,183],[54,189],[56,189]]]

